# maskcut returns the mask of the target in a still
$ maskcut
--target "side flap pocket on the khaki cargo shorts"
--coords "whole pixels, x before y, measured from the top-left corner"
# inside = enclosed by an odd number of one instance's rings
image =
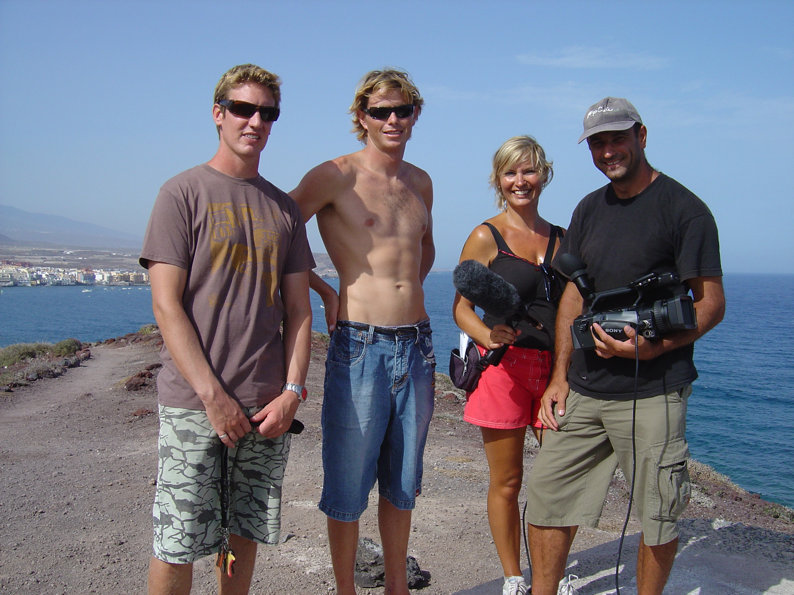
[[[653,520],[676,520],[687,508],[692,486],[689,484],[689,447],[684,438],[650,447],[652,461],[648,473],[648,516]]]

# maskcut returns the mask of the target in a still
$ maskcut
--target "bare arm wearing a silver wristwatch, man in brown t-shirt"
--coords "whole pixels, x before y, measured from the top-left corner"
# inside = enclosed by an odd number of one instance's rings
[[[308,273],[284,274],[280,283],[284,304],[283,344],[287,382],[302,385],[309,370],[311,349],[311,304]],[[266,438],[281,436],[290,427],[298,409],[298,395],[285,390],[270,401],[251,420],[262,422],[258,432]]]

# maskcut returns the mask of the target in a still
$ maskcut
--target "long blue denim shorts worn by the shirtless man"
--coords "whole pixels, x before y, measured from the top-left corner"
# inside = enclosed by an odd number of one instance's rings
[[[322,401],[322,512],[357,520],[376,480],[395,508],[414,508],[435,366],[428,320],[399,327],[337,321]]]

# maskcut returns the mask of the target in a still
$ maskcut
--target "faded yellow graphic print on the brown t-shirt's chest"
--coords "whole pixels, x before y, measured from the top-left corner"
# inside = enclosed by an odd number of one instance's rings
[[[260,274],[262,286],[268,288],[268,305],[273,305],[279,234],[265,227],[272,221],[260,217],[250,205],[210,202],[207,209],[212,223],[211,272],[230,267],[240,274]]]

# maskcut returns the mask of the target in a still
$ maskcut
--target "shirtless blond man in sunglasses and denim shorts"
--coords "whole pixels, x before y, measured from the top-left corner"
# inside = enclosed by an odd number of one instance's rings
[[[386,593],[407,595],[410,511],[422,485],[435,356],[422,282],[435,258],[430,176],[403,161],[422,110],[403,71],[361,79],[350,112],[364,148],[314,167],[290,194],[317,215],[339,295],[316,274],[331,342],[319,507],[338,595],[354,595],[358,519],[378,480]]]

